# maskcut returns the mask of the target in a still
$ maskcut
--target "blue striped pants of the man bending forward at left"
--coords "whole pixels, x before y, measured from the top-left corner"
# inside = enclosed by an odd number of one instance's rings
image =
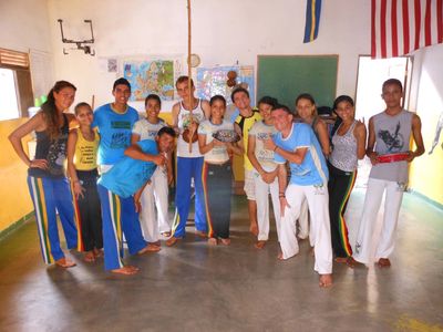
[[[143,239],[134,198],[123,198],[97,185],[102,206],[103,248],[105,270],[123,268],[123,235],[131,255],[137,253],[146,241]]]

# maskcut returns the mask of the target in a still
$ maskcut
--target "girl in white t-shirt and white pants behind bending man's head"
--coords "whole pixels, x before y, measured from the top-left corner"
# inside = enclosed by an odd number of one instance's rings
[[[162,101],[158,95],[150,94],[145,100],[146,117],[137,121],[132,129],[131,144],[138,141],[155,141],[161,128],[167,126],[158,117]],[[152,251],[159,250],[159,236],[171,236],[171,224],[167,216],[168,205],[168,184],[173,180],[171,156],[167,158],[166,167],[157,167],[151,177],[151,181],[145,186],[141,196],[142,210],[140,222],[142,224],[143,235],[150,243]],[[157,216],[155,216],[155,207]]]

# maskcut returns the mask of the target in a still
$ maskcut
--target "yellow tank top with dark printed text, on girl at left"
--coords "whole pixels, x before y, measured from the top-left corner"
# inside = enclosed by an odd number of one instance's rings
[[[90,142],[83,137],[80,129],[76,131],[76,144],[74,165],[78,170],[91,170],[97,167],[96,157],[100,143],[99,133],[94,129],[94,141]]]

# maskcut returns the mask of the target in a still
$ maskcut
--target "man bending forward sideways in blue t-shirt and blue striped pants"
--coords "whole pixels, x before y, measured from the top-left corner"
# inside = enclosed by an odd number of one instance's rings
[[[140,227],[140,197],[156,167],[166,166],[166,154],[173,148],[174,137],[173,128],[161,128],[155,141],[144,139],[127,147],[125,156],[100,177],[97,189],[102,205],[105,270],[121,274],[138,271],[136,267],[123,264],[122,230],[130,253],[136,253],[137,250],[143,253],[145,242],[127,234],[123,220],[136,222]]]

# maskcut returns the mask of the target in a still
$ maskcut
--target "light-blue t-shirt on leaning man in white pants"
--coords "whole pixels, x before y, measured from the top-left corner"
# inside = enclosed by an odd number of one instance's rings
[[[328,185],[328,167],[320,143],[311,127],[303,123],[293,123],[288,137],[282,138],[281,133],[274,137],[277,146],[288,152],[307,147],[308,152],[300,165],[290,163],[290,183],[299,186]],[[274,154],[277,164],[285,164],[286,159],[278,153]]]

